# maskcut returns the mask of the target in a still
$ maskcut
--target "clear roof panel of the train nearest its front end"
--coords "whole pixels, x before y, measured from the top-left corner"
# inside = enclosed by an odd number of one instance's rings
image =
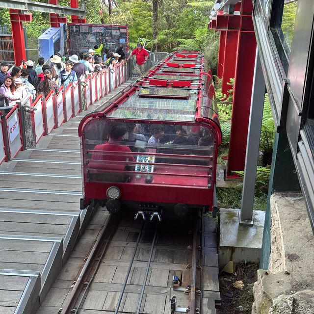
[[[151,89],[142,90],[150,91]],[[188,100],[147,99],[139,98],[137,94],[133,94],[127,101],[109,112],[107,116],[110,118],[194,121],[197,97],[196,92],[182,89],[176,89],[176,91],[184,94],[188,92]]]

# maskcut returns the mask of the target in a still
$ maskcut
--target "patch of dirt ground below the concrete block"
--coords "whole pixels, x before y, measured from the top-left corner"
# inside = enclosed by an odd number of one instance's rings
[[[221,308],[216,310],[217,314],[251,314],[253,285],[257,281],[258,269],[256,263],[240,262],[234,274],[223,272],[219,275]],[[243,282],[242,289],[233,286],[237,281]]]

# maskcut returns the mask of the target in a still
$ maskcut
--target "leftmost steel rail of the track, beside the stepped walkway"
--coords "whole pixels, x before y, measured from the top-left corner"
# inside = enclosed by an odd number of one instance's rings
[[[78,288],[80,287],[80,283],[83,279],[83,277],[85,276],[86,274],[86,271],[88,270],[88,267],[90,266],[91,262],[92,262],[92,259],[94,258],[94,254],[95,252],[98,250],[99,248],[99,245],[102,243],[102,240],[103,240],[103,236],[105,234],[105,230],[106,230],[106,227],[109,225],[109,222],[112,220],[112,215],[109,216],[109,219],[107,219],[106,221],[106,224],[105,226],[103,227],[101,233],[99,234],[98,236],[98,239],[96,241],[96,243],[94,244],[92,250],[91,250],[91,253],[89,254],[88,256],[88,259],[87,261],[85,262],[79,276],[78,276],[78,279],[71,291],[71,293],[69,294],[69,296],[66,298],[65,302],[64,302],[64,306],[62,308],[62,311],[60,314],[67,314],[67,312],[69,311],[69,308],[73,302],[73,299],[78,291]],[[109,241],[108,241],[109,242]]]

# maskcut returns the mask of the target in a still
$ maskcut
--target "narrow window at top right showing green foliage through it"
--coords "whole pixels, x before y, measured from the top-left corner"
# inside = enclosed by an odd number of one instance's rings
[[[270,29],[286,74],[288,73],[297,5],[298,0],[272,2]]]

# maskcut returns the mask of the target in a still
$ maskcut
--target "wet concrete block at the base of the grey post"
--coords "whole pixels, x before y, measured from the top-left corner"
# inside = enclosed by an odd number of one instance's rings
[[[253,226],[239,224],[240,209],[219,209],[219,269],[229,261],[260,262],[265,212],[253,210]]]

